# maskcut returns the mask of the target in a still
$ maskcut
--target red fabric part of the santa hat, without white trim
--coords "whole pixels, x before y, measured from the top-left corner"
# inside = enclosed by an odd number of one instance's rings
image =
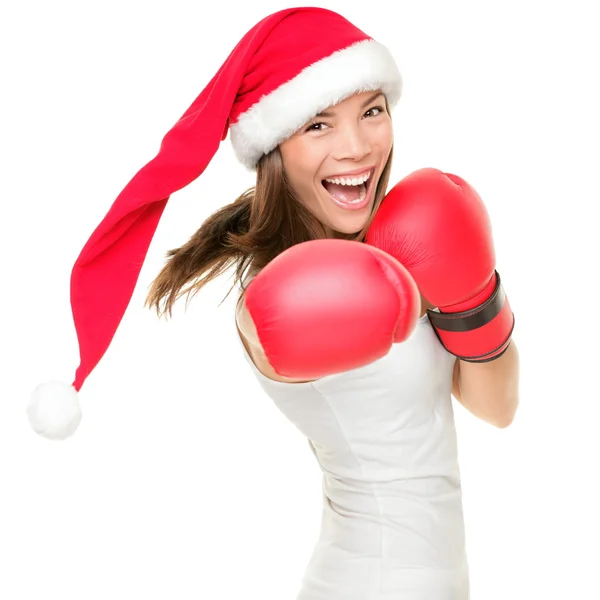
[[[116,198],[75,262],[71,307],[80,349],[76,390],[115,335],[171,194],[204,171],[240,112],[314,60],[361,36],[336,13],[292,8],[266,17],[237,44],[165,135],[157,156]]]

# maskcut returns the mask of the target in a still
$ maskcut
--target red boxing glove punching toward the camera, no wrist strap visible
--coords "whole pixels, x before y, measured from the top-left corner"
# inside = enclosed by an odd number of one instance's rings
[[[317,379],[368,364],[413,331],[418,288],[391,256],[348,240],[296,244],[244,292],[265,356],[284,377]]]

